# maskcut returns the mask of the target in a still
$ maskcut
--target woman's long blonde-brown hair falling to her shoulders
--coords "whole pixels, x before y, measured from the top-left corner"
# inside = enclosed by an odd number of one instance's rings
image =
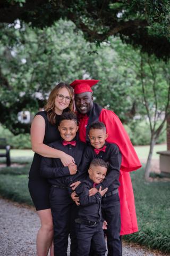
[[[58,94],[58,91],[60,89],[64,88],[64,87],[69,91],[70,97],[71,97],[69,107],[64,109],[64,111],[71,111],[71,112],[74,113],[74,107],[73,107],[74,91],[73,91],[73,88],[69,84],[61,82],[61,83],[57,84],[54,87],[54,89],[50,92],[47,103],[44,106],[44,110],[47,111],[48,121],[51,124],[56,123],[56,114],[55,114],[55,98],[56,98],[56,95]]]

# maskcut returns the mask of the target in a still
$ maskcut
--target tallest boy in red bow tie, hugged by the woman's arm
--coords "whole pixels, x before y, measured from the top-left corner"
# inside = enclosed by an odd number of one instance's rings
[[[76,139],[78,131],[77,116],[63,113],[60,117],[58,130],[61,140],[50,143],[49,146],[71,155],[75,163],[64,167],[59,158],[42,157],[41,175],[48,179],[50,188],[50,206],[54,225],[54,255],[66,256],[68,237],[70,234],[70,255],[77,255],[77,239],[74,230],[74,219],[77,205],[72,201],[69,184],[79,175],[79,165],[86,144]]]

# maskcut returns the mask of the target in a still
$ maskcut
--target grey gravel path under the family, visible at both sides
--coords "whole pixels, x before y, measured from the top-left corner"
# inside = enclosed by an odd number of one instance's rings
[[[0,198],[0,255],[36,256],[36,234],[40,226],[34,210]],[[123,256],[165,255],[123,244]],[[61,255],[62,256],[62,255]]]

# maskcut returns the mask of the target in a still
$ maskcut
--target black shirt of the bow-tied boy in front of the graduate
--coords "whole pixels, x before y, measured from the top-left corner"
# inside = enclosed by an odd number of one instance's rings
[[[94,147],[89,145],[84,150],[81,169],[88,170],[90,162],[94,158],[103,159],[106,163],[108,163],[108,170],[104,181],[96,186],[97,189],[99,189],[101,186],[102,190],[104,188],[108,188],[108,193],[109,191],[113,191],[120,186],[119,176],[122,154],[116,144],[106,142],[105,145],[106,151],[100,151],[98,155],[95,153]]]

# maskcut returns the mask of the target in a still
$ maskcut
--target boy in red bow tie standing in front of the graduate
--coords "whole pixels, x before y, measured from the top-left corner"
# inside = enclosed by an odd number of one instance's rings
[[[121,256],[121,217],[118,187],[120,186],[119,175],[122,156],[120,150],[114,143],[106,142],[108,134],[106,133],[106,127],[104,123],[92,123],[89,126],[88,136],[91,145],[89,145],[84,151],[82,161],[83,168],[88,170],[89,163],[94,158],[103,159],[109,164],[105,179],[95,188],[90,189],[89,196],[95,195],[95,193],[98,192],[100,186],[102,189],[105,189],[106,187],[108,188],[107,193],[103,196],[101,202],[103,218],[107,222],[106,235],[108,255]]]

